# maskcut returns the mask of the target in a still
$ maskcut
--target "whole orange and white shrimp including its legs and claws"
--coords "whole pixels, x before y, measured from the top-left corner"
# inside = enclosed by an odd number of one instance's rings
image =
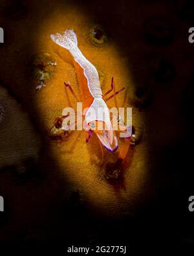
[[[114,152],[118,148],[118,139],[116,137],[116,134],[113,130],[113,125],[111,123],[111,117],[109,113],[109,108],[107,107],[106,102],[110,99],[112,99],[115,95],[117,95],[120,91],[122,91],[125,87],[120,89],[119,91],[116,91],[113,95],[110,97],[105,97],[113,91],[113,78],[111,82],[111,89],[107,91],[104,95],[102,94],[102,89],[100,86],[100,79],[98,75],[98,71],[96,70],[96,67],[83,56],[82,52],[78,48],[78,40],[76,33],[73,30],[65,30],[62,34],[51,34],[50,38],[60,45],[61,47],[67,49],[70,54],[72,54],[72,57],[74,58],[74,66],[77,69],[81,69],[82,72],[81,75],[83,76],[83,79],[81,80],[81,101],[83,102],[83,106],[87,107],[87,111],[84,113],[85,117],[85,124],[89,127],[87,130],[87,139],[86,141],[89,141],[89,138],[91,137],[92,131],[96,133],[98,136],[98,139],[100,140],[100,143],[107,148],[107,150]],[[86,78],[86,79],[84,79]],[[69,87],[72,95],[75,99],[76,95],[70,86],[70,84],[64,83],[66,87]],[[98,110],[103,111],[103,116],[100,115]],[[63,120],[67,117],[67,115],[60,117],[56,120],[56,126],[61,126]],[[94,129],[98,126],[102,127],[103,129]],[[91,129],[92,128],[92,129]],[[122,150],[120,150],[119,157],[121,159],[124,159],[125,155],[127,154],[127,150],[129,149],[129,142],[131,134],[129,130],[127,129],[127,126],[125,126],[124,122],[120,122],[118,128],[126,133],[125,140],[124,140],[124,146]]]

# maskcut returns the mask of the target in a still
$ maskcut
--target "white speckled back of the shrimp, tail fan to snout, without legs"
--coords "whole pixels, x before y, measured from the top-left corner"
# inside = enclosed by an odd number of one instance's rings
[[[105,122],[107,132],[103,130],[103,135],[97,135],[102,144],[108,150],[113,151],[111,145],[114,144],[114,146],[117,146],[117,139],[116,136],[113,135],[109,109],[105,101],[102,99],[102,89],[100,87],[100,79],[96,67],[94,67],[94,65],[92,65],[85,56],[83,56],[82,52],[78,48],[77,36],[73,30],[65,30],[62,34],[51,34],[50,38],[61,47],[67,49],[74,57],[74,60],[82,67],[83,73],[87,78],[87,86],[94,98],[89,110],[87,110],[87,113],[85,114],[85,121],[87,124],[92,121]]]

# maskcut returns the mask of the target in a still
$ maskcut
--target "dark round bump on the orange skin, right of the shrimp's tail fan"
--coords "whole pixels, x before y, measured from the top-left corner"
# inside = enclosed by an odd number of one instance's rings
[[[107,42],[107,34],[102,27],[95,27],[91,30],[91,42],[96,46],[103,46]]]

